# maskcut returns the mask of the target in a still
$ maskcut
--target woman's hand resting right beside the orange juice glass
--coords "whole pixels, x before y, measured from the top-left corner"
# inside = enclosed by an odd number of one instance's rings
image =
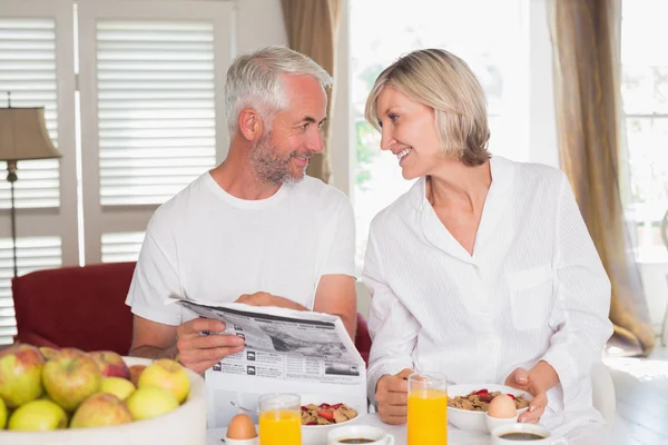
[[[413,369],[404,369],[396,375],[385,375],[376,384],[375,399],[381,421],[389,425],[406,423],[409,408],[409,376]]]

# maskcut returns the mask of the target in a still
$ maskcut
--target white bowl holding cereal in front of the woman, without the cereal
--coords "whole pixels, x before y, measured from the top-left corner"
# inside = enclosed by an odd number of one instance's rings
[[[505,385],[493,385],[487,383],[449,386],[448,396],[450,398],[454,398],[456,396],[465,396],[474,390],[480,389],[488,389],[490,393],[500,390],[503,394],[512,394],[515,397],[524,395],[524,399],[527,400],[531,400],[533,398],[531,394],[527,392],[511,388],[510,386]],[[527,408],[518,409],[518,415],[523,413],[524,411],[527,411]],[[485,417],[487,413],[480,411],[460,409],[450,406],[448,407],[448,422],[458,427],[459,429],[489,434],[490,431],[488,428]]]

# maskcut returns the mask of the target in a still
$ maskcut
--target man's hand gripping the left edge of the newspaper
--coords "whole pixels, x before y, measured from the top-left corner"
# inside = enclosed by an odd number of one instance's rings
[[[199,335],[202,332],[222,333],[223,330],[225,330],[225,323],[209,318],[195,318],[184,323],[176,328],[177,359],[195,373],[204,374],[228,355],[244,350],[244,339],[236,335]]]

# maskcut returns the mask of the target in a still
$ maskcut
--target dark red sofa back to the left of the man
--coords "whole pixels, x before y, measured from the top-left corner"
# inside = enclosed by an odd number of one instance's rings
[[[125,299],[136,263],[38,270],[12,280],[17,342],[127,355],[132,313]]]

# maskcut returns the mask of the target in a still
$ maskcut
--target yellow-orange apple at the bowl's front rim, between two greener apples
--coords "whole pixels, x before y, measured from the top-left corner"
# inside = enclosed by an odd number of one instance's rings
[[[70,422],[70,428],[90,428],[130,422],[132,422],[132,414],[120,398],[114,394],[98,393],[79,405]]]

